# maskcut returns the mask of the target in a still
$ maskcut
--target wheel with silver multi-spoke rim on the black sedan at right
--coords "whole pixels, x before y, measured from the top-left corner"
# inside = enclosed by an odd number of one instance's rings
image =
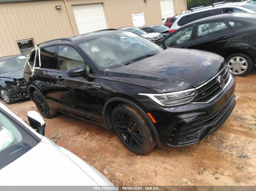
[[[244,53],[234,53],[227,57],[228,70],[234,76],[245,76],[253,68],[252,59]]]

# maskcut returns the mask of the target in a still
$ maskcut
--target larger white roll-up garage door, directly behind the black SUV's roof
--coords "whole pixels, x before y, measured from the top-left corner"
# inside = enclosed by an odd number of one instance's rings
[[[102,3],[72,5],[79,34],[107,29]]]

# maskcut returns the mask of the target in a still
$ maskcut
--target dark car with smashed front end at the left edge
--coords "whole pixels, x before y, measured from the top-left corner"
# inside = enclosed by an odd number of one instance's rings
[[[7,104],[28,97],[23,80],[26,59],[22,55],[0,57],[0,96]]]

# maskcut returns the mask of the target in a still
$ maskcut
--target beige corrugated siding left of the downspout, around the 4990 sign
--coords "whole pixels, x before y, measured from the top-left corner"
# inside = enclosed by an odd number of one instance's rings
[[[0,56],[20,54],[17,40],[37,44],[74,35],[67,13],[62,0],[0,3]]]

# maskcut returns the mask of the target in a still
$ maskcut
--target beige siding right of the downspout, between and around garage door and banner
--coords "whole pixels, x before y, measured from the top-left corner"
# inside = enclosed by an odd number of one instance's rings
[[[71,20],[75,30],[76,27],[74,14],[71,5],[103,3],[108,28],[118,28],[133,26],[131,14],[144,12],[146,25],[161,24],[161,9],[159,0],[67,0]]]

